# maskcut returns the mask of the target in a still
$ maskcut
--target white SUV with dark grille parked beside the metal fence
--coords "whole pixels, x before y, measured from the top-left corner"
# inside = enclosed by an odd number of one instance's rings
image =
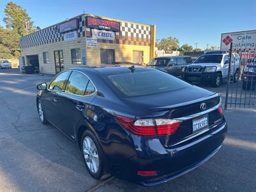
[[[230,75],[234,83],[239,79],[239,55],[232,53]],[[189,82],[210,82],[218,87],[228,77],[228,53],[207,52],[184,68],[184,79]]]

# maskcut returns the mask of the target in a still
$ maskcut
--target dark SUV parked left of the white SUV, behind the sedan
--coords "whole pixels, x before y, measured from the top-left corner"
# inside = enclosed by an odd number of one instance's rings
[[[163,70],[168,74],[176,77],[182,76],[182,68],[191,64],[192,60],[189,56],[164,56],[154,58],[147,65],[159,70]]]

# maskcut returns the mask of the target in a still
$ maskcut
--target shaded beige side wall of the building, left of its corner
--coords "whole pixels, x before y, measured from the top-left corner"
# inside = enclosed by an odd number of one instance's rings
[[[29,47],[21,49],[21,56],[29,56],[38,54],[40,72],[45,74],[55,74],[54,64],[54,51],[63,50],[63,58],[65,68],[76,67],[81,65],[74,65],[71,62],[71,51],[70,49],[86,49],[86,38],[77,38],[76,40],[55,42],[47,45],[40,45],[36,47]],[[49,52],[49,63],[45,64],[43,60],[43,52]],[[26,65],[28,65],[26,60]]]

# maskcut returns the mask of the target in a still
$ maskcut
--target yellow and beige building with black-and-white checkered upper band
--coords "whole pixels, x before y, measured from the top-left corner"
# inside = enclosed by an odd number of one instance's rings
[[[83,14],[20,38],[20,66],[56,74],[80,65],[113,61],[148,63],[156,26]]]

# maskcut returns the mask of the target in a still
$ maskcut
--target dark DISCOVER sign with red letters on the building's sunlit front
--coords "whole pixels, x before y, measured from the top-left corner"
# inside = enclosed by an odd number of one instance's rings
[[[86,26],[95,29],[107,29],[109,31],[120,31],[120,23],[112,20],[86,17]]]

